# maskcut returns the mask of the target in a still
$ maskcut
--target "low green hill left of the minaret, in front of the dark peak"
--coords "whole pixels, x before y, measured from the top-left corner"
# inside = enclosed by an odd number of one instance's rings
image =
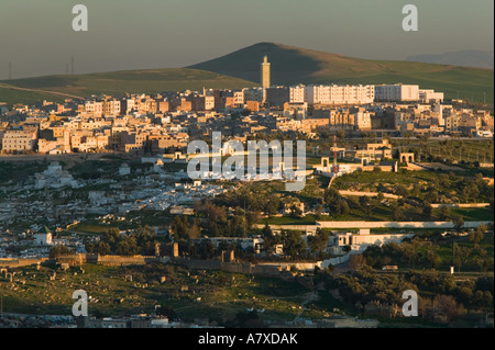
[[[0,81],[0,102],[63,101],[91,94],[120,95],[206,88],[240,89],[255,83],[189,68],[122,70],[76,76],[46,76]]]

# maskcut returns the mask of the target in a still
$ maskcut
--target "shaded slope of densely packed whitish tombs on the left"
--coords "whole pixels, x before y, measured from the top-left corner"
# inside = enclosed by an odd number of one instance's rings
[[[143,162],[148,161],[143,158]],[[158,159],[143,165],[144,169],[133,169],[123,162],[109,178],[75,180],[68,170],[54,161],[46,170],[34,173],[26,183],[3,189],[0,233],[9,232],[9,228],[21,233],[19,227],[28,218],[33,223],[29,233],[42,229],[41,223],[69,228],[88,215],[125,216],[141,210],[188,215],[195,202],[229,190],[201,181],[185,182],[188,176],[184,170],[168,172],[163,165]],[[51,240],[45,237],[45,244],[41,246],[50,245]]]

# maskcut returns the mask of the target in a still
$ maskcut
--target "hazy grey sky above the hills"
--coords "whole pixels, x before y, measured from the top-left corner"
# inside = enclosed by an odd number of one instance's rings
[[[75,4],[89,31],[74,32]],[[404,32],[405,4],[419,31]],[[0,0],[0,79],[184,67],[258,43],[405,59],[494,49],[493,0]]]

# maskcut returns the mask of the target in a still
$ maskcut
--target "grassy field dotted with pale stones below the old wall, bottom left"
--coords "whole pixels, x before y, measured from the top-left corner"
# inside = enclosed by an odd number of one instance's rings
[[[57,272],[50,281],[52,270],[19,269],[14,283],[0,278],[6,313],[38,315],[69,315],[72,293],[85,290],[90,296],[91,316],[120,316],[152,313],[155,305],[174,308],[183,320],[210,318],[232,319],[246,308],[265,309],[262,319],[292,320],[299,313],[308,289],[296,282],[249,276],[219,271],[189,271],[184,268],[147,264],[141,267],[102,267],[86,264],[85,273],[76,270]],[[124,276],[132,274],[133,281]],[[166,276],[161,284],[160,276]],[[188,291],[180,291],[188,285]],[[322,311],[307,314],[321,317]]]

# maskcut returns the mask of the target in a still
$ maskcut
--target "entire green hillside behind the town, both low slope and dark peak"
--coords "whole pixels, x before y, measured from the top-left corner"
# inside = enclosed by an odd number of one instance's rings
[[[446,98],[494,102],[494,71],[414,61],[369,60],[261,43],[187,68],[141,69],[0,81],[0,102],[63,101],[91,94],[119,95],[206,88],[239,89],[258,84],[267,55],[274,84],[417,83]],[[253,82],[254,81],[254,82]],[[24,90],[21,90],[24,89]],[[58,94],[56,94],[58,93]]]

